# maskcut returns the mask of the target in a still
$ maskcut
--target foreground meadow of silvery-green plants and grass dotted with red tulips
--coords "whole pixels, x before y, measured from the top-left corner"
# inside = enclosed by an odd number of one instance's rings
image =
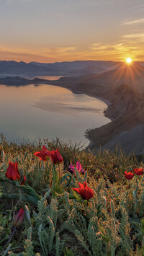
[[[143,155],[1,134],[0,162],[0,255],[144,255]]]

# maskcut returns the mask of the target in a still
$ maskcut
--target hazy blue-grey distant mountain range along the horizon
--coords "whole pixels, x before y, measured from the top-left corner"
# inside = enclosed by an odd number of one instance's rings
[[[119,69],[123,63],[114,61],[72,61],[38,63],[0,61],[0,76],[81,76]],[[144,66],[144,61],[140,62]]]

